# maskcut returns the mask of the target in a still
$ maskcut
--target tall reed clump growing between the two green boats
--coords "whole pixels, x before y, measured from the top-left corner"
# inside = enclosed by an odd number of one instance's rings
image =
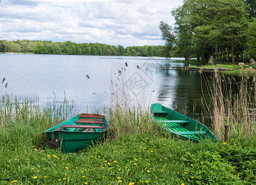
[[[156,132],[154,120],[149,113],[151,99],[146,100],[144,88],[146,87],[146,72],[137,65],[136,84],[130,74],[128,64],[118,70],[116,77],[111,76],[110,108],[108,120],[112,127],[110,138],[126,134],[154,134]],[[140,87],[138,90],[138,86]],[[148,102],[147,102],[148,101]]]

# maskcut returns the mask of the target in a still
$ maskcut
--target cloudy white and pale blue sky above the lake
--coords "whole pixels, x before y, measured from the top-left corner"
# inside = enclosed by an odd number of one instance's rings
[[[163,45],[159,23],[183,0],[0,0],[0,40]]]

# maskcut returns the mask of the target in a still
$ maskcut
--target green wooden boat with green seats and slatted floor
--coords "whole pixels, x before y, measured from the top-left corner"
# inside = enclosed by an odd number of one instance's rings
[[[207,126],[161,104],[152,104],[151,113],[160,128],[169,131],[181,139],[196,142],[202,140],[213,141],[216,139],[216,136]]]

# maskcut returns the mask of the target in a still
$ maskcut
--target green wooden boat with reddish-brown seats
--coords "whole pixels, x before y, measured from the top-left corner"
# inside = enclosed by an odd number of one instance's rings
[[[109,128],[104,115],[81,113],[44,133],[48,139],[60,137],[63,152],[75,152],[102,139]]]

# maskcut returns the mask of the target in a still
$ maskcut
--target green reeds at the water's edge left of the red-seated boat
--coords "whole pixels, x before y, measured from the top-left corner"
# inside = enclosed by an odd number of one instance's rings
[[[35,100],[18,99],[4,94],[0,100],[0,143],[4,146],[44,145],[43,131],[58,125],[76,112],[73,101],[63,102],[54,99],[53,102],[40,104]],[[31,139],[31,140],[30,140]],[[2,147],[2,148],[3,148]]]

